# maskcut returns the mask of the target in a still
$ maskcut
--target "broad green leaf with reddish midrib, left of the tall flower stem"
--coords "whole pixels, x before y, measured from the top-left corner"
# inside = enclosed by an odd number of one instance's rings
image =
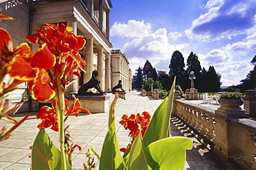
[[[35,138],[32,149],[32,169],[40,170],[59,170],[61,169],[60,150],[55,147],[44,129],[40,130]],[[71,166],[66,160],[67,169]]]

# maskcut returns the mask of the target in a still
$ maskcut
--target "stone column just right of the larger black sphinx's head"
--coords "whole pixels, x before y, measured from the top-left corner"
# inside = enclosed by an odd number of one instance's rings
[[[100,79],[100,88],[104,91],[104,75],[103,75],[103,46],[97,46],[98,48],[98,62],[97,62],[97,70],[98,70],[98,79]]]

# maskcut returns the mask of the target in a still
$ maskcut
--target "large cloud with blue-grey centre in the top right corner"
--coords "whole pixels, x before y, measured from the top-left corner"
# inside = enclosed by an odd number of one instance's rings
[[[208,12],[192,21],[185,30],[189,39],[217,41],[247,35],[255,29],[255,1],[210,0],[205,7]]]

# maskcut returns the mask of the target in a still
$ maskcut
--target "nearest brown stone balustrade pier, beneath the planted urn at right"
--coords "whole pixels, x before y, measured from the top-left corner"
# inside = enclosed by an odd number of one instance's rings
[[[231,120],[248,117],[248,114],[241,109],[243,100],[233,99],[219,99],[221,106],[217,108],[214,115],[215,128],[214,132],[216,137],[213,142],[214,151],[216,151],[225,160],[234,159],[239,153],[243,143],[241,140],[235,140],[237,138],[245,138],[244,131],[235,126]]]

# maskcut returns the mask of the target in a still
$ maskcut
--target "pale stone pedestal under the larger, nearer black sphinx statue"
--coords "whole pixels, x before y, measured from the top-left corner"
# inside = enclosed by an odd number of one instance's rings
[[[109,95],[74,95],[79,99],[82,108],[86,108],[91,113],[105,113],[109,110]],[[66,95],[65,98],[70,105],[74,101],[72,95]]]

